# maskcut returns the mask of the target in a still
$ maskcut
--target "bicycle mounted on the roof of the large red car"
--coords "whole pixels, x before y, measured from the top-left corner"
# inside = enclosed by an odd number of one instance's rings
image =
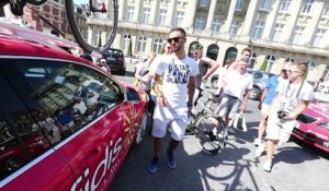
[[[3,2],[10,3],[11,12],[14,15],[22,16],[24,11],[24,7],[26,3],[32,5],[43,5],[47,2],[47,0],[0,0],[1,4]],[[68,24],[75,36],[75,39],[80,45],[80,47],[88,53],[99,52],[104,53],[111,48],[111,45],[115,38],[116,29],[117,29],[117,0],[103,0],[102,3],[97,2],[95,0],[65,0],[66,8],[66,16],[68,20]],[[77,9],[79,8],[79,9]],[[86,11],[86,14],[81,12],[81,9]],[[97,14],[101,14],[101,19],[94,19]],[[91,43],[92,35],[88,35],[87,31],[80,28],[78,15],[86,16],[87,22],[99,22],[103,26],[107,27],[109,33],[105,35],[106,39],[104,45],[102,43]],[[43,20],[44,21],[44,20]],[[50,22],[48,22],[50,23]],[[50,25],[52,26],[52,25]],[[54,26],[52,26],[54,27]],[[94,26],[90,26],[94,27]],[[58,31],[55,28],[55,31]],[[99,39],[101,39],[101,34],[99,34]]]

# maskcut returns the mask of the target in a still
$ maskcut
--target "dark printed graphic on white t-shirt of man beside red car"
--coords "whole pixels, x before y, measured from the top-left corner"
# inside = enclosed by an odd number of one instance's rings
[[[184,64],[169,64],[168,65],[168,74],[167,74],[167,82],[174,83],[174,84],[186,84],[189,82],[191,69],[190,65]]]

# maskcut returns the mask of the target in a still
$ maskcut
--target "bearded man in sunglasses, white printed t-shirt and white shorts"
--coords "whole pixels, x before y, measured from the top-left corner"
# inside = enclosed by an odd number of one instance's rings
[[[157,106],[152,128],[155,156],[148,165],[150,172],[156,172],[158,169],[161,139],[167,134],[168,124],[171,127],[171,140],[167,150],[167,164],[169,168],[175,168],[173,150],[183,140],[185,133],[188,115],[191,114],[193,105],[195,76],[198,73],[197,63],[184,51],[185,31],[181,27],[172,28],[167,41],[173,53],[156,59],[158,63],[156,63],[154,89],[157,95]],[[162,79],[161,88],[160,79]]]

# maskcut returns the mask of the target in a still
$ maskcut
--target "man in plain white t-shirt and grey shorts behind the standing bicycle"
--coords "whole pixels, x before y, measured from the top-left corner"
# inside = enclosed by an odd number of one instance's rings
[[[238,61],[238,68],[228,71],[223,80],[223,86],[219,91],[219,94],[223,93],[223,99],[215,112],[225,119],[227,126],[239,109],[246,110],[249,91],[252,88],[253,83],[252,75],[247,73],[248,67],[247,60]],[[230,128],[228,130],[234,133]]]

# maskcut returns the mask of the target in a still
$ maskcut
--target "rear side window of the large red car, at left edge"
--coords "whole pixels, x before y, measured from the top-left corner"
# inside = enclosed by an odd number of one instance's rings
[[[0,72],[0,181],[50,148],[52,121],[36,121],[22,97]],[[25,89],[26,87],[20,87]]]

